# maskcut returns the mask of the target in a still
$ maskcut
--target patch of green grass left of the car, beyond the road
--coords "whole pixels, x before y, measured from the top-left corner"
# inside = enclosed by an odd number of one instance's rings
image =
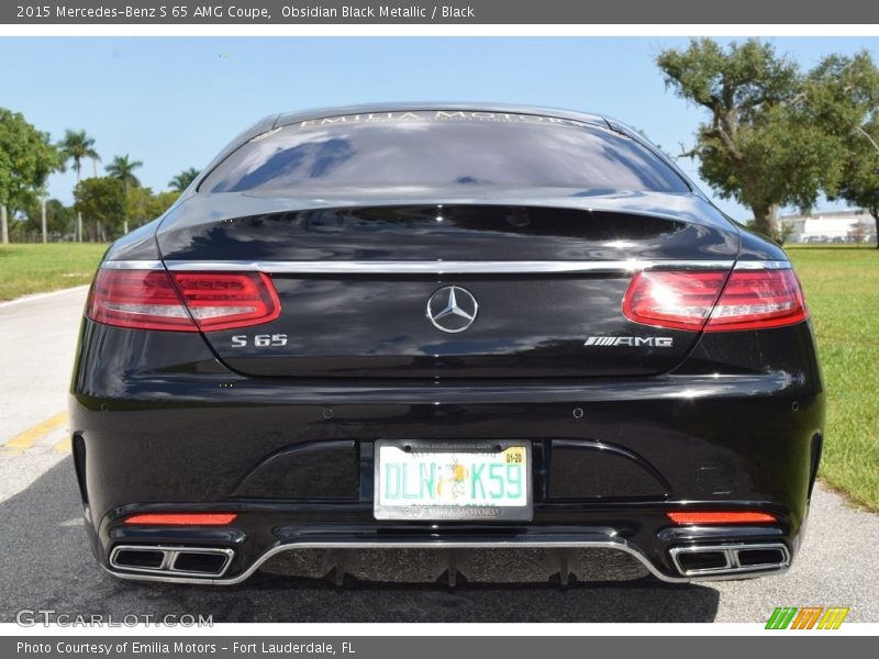
[[[0,245],[0,300],[89,283],[107,245]]]

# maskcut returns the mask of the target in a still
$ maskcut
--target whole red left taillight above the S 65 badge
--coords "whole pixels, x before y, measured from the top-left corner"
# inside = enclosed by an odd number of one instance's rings
[[[246,327],[279,314],[278,294],[262,272],[100,270],[86,308],[107,325],[177,332]]]

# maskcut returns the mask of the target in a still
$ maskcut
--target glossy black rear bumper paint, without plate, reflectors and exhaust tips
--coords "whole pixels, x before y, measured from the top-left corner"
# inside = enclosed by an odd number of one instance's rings
[[[799,354],[811,340],[806,324],[755,334],[761,335],[752,337],[759,351],[749,362],[734,335],[705,335],[696,361],[647,380],[378,387],[245,378],[219,366],[197,335],[87,321],[84,345],[105,356],[82,351],[74,383],[89,522],[100,556],[107,556],[123,539],[210,545],[229,533],[121,526],[121,517],[134,511],[243,511],[235,528],[246,537],[247,550],[233,567],[241,571],[246,556],[255,558],[279,541],[281,527],[351,534],[345,537],[387,530],[371,518],[371,501],[364,500],[371,490],[360,478],[370,470],[351,466],[368,459],[377,438],[513,436],[541,447],[533,527],[455,530],[452,525],[447,532],[431,530],[431,537],[577,534],[590,525],[611,526],[674,574],[665,549],[680,543],[681,534],[696,532],[670,529],[663,513],[710,502],[712,507],[768,510],[783,520],[779,527],[725,529],[723,537],[780,537],[795,549],[814,478],[812,442],[821,434],[824,395],[816,364],[803,362]],[[145,364],[137,357],[145,354],[164,359]],[[728,364],[734,375],[688,373],[705,370],[711,354],[719,356],[719,368]],[[576,410],[582,410],[581,418]],[[301,469],[276,472],[272,487],[271,462],[278,456],[289,460],[300,446],[313,450],[323,443],[332,446],[323,467],[310,456],[311,463]],[[590,454],[600,459],[590,461]],[[585,472],[571,468],[576,460],[588,465]],[[315,471],[333,479],[335,494],[348,503],[327,502],[325,483],[310,485]],[[583,478],[589,473],[591,479]],[[415,535],[425,530],[418,524],[392,526]],[[720,533],[704,532],[715,539]]]

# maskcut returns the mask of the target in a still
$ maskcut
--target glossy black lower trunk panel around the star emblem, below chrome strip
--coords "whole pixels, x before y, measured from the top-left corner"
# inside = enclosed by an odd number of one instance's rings
[[[282,350],[233,347],[232,336],[254,334],[237,330],[212,333],[209,342],[232,370],[267,377],[519,379],[668,370],[697,336],[657,332],[622,317],[619,301],[628,279],[275,277],[282,306],[293,311],[258,333],[283,333]],[[425,321],[425,301],[452,283],[471,291],[481,311],[467,332],[454,336]],[[394,322],[386,326],[389,317]],[[637,350],[583,348],[585,336],[617,334],[659,334],[675,343]]]

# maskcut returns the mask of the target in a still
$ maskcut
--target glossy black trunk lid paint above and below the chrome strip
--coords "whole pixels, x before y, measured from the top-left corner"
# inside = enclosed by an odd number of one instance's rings
[[[537,192],[528,194],[533,204]],[[291,201],[209,194],[166,220],[158,244],[169,261],[472,261],[487,254],[496,260],[589,261],[732,260],[739,242],[734,226],[690,194],[586,198],[560,197],[555,190],[543,199],[558,205],[501,205],[488,203],[489,199],[465,204],[439,198],[445,203],[274,212],[277,204]],[[658,213],[660,204],[679,211],[675,216]],[[210,205],[214,208],[205,208]],[[597,210],[602,206],[612,210]],[[226,213],[270,212],[205,223],[205,216],[218,216],[216,208]],[[709,220],[697,222],[700,216]],[[232,337],[246,332],[216,332],[208,338],[230,368],[252,376],[534,378],[668,370],[687,355],[694,334],[661,332],[674,339],[672,348],[591,350],[588,360],[583,358],[588,335],[657,334],[620,314],[628,280],[620,275],[277,275],[274,281],[283,313],[259,332],[288,336],[282,350],[260,349],[253,342],[244,348],[233,346]],[[485,310],[470,330],[454,338],[424,321],[424,301],[449,283],[472,291]],[[388,317],[394,319],[392,325],[385,324]]]

